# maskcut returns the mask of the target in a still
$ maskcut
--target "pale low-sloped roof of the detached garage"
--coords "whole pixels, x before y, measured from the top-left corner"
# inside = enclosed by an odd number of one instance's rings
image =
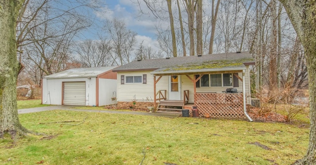
[[[45,76],[43,78],[80,78],[80,77],[97,77],[98,75],[110,71],[117,66],[107,67],[89,67],[89,68],[73,68],[64,70],[55,74]]]

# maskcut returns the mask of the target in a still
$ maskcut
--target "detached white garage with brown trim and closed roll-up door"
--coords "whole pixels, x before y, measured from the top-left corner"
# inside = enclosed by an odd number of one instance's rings
[[[116,103],[114,66],[74,68],[42,78],[42,104],[103,106]]]

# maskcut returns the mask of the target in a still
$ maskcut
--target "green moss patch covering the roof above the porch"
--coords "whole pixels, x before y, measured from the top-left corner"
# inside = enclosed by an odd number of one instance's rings
[[[165,68],[163,71],[170,71],[170,70],[198,70],[198,69],[205,69],[205,68],[222,68],[222,67],[229,67],[229,66],[241,66],[245,62],[253,61],[252,58],[243,58],[238,60],[215,60],[215,61],[204,61],[201,63],[188,63],[182,66],[175,66],[175,67],[168,67]]]

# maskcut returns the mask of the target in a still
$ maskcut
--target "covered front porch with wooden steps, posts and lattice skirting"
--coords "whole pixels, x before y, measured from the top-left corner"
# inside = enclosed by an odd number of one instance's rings
[[[242,78],[239,77],[237,73],[242,75]],[[197,82],[200,81],[203,75],[207,74],[231,74],[231,82],[233,80],[233,75],[237,78],[237,85],[238,81],[242,83],[241,87],[238,87],[239,92],[235,90],[236,93],[228,92],[224,90],[228,90],[230,86],[233,86],[232,83],[229,86],[221,85],[217,88],[211,88],[208,86],[207,88],[200,88],[200,84],[198,84],[199,89],[197,92]],[[156,79],[156,75],[154,75],[154,91],[155,91],[155,98],[154,98],[154,107],[156,111],[163,111],[163,112],[176,112],[181,113],[183,109],[192,110],[191,106],[186,106],[189,102],[193,103],[194,106],[197,106],[199,116],[210,116],[210,117],[218,117],[218,118],[248,118],[249,121],[252,119],[246,112],[246,90],[245,90],[245,70],[233,70],[233,71],[221,71],[221,72],[206,72],[206,73],[178,73],[178,75],[183,75],[187,77],[187,80],[182,80],[186,82],[185,89],[193,90],[193,97],[189,97],[189,90],[183,91],[182,100],[168,100],[166,95],[170,92],[167,90],[156,91],[156,84],[160,80],[162,76],[170,76],[172,77],[173,74],[159,74],[158,79]],[[181,83],[183,83],[180,81]],[[191,81],[191,82],[190,82]],[[222,80],[221,80],[222,82]],[[234,80],[235,83],[235,80]],[[192,84],[192,85],[188,85]],[[171,84],[173,85],[173,84]],[[191,87],[190,87],[191,86]],[[193,87],[193,88],[192,88]],[[225,88],[226,87],[226,88]],[[235,87],[235,86],[234,86]],[[212,91],[212,89],[216,89],[217,91]],[[236,88],[235,88],[236,89]],[[169,89],[170,90],[170,89]],[[221,92],[221,91],[223,92]],[[189,101],[189,98],[191,101]],[[193,99],[193,100],[192,100]],[[192,106],[193,106],[192,105]]]

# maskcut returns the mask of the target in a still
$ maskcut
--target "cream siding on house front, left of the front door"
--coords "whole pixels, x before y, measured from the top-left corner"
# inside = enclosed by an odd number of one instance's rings
[[[143,76],[147,75],[147,84],[143,83],[120,83],[121,75],[124,76]],[[156,77],[158,79],[158,77]],[[168,90],[168,77],[163,76],[156,85],[156,90]],[[157,92],[156,91],[156,92]],[[168,94],[167,94],[168,96]],[[140,102],[154,101],[154,77],[150,71],[118,72],[118,101],[132,101],[133,99]]]

